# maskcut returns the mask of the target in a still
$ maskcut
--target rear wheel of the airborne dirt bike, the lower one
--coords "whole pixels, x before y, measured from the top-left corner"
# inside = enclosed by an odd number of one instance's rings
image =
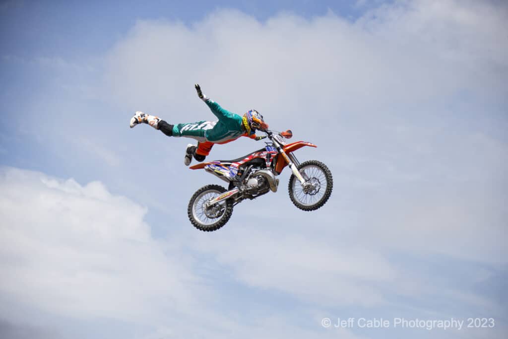
[[[224,192],[226,192],[224,187],[207,185],[194,193],[187,207],[187,215],[194,227],[201,231],[215,231],[229,221],[233,213],[233,202],[231,200],[221,201],[209,207],[206,206],[208,201]]]

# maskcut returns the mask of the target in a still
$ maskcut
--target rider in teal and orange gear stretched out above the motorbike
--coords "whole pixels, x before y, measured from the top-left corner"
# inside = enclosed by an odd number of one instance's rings
[[[261,140],[266,136],[256,136],[256,130],[265,131],[268,125],[263,116],[251,109],[243,116],[230,112],[219,104],[207,98],[198,84],[195,85],[198,96],[203,100],[212,113],[218,118],[216,121],[198,121],[186,124],[171,125],[165,120],[143,112],[136,112],[131,118],[131,128],[140,123],[148,124],[156,130],[160,130],[167,136],[187,137],[198,141],[197,145],[188,144],[185,150],[184,164],[188,166],[192,158],[197,161],[205,160],[214,144],[225,144],[239,137],[249,137]]]

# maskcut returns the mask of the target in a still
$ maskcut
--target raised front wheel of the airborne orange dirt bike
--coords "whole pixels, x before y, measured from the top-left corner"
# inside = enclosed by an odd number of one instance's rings
[[[313,211],[323,206],[333,189],[332,173],[322,162],[316,160],[306,161],[298,170],[305,179],[302,186],[300,180],[291,175],[289,179],[289,197],[296,207],[304,211]]]

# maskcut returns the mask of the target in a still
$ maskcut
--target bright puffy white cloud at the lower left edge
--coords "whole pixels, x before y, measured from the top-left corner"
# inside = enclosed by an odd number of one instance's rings
[[[40,173],[2,170],[3,293],[74,317],[155,317],[163,303],[192,304],[196,278],[153,240],[146,208]]]

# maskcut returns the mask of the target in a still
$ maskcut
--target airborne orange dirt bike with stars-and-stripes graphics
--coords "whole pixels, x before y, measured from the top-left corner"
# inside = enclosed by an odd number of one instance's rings
[[[312,211],[323,206],[332,193],[333,178],[328,167],[315,160],[298,162],[294,151],[316,145],[297,141],[286,143],[284,139],[293,136],[285,132],[263,131],[270,142],[245,157],[233,160],[204,162],[190,169],[205,169],[229,183],[228,190],[210,184],[200,188],[190,198],[187,215],[199,230],[215,231],[231,218],[233,207],[246,199],[256,199],[270,191],[277,192],[279,179],[276,178],[285,167],[293,174],[289,179],[289,196],[296,207]]]

